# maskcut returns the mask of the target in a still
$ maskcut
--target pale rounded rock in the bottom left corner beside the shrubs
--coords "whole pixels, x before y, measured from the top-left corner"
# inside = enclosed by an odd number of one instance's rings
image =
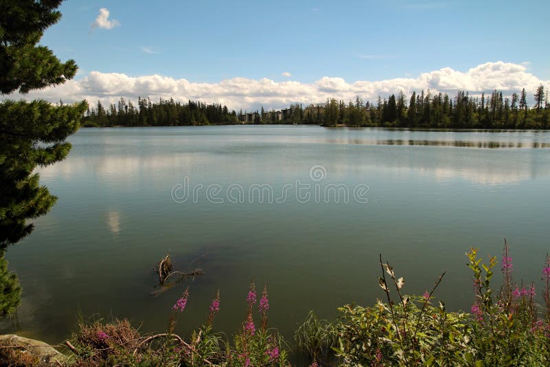
[[[2,348],[5,346],[14,348]],[[0,361],[25,366],[65,366],[69,364],[69,357],[45,342],[7,334],[0,335]]]

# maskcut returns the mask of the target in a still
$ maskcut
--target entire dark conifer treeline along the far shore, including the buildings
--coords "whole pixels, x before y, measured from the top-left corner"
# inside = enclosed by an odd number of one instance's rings
[[[221,104],[187,103],[139,98],[137,107],[120,98],[105,109],[101,102],[91,108],[85,126],[173,126],[237,124],[316,124],[322,126],[383,126],[452,129],[550,129],[550,101],[540,85],[534,105],[527,104],[525,89],[504,97],[502,91],[469,96],[459,91],[454,98],[447,93],[413,92],[410,98],[399,92],[375,104],[329,99],[326,103],[292,104],[282,111],[229,111]]]

